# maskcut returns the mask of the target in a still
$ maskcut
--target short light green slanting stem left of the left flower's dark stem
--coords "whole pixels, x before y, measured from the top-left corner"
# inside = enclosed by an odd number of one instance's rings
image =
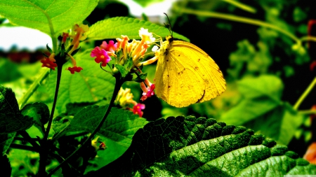
[[[44,71],[42,71],[39,74],[39,77],[37,78],[37,80],[34,81],[34,83],[32,83],[32,85],[29,87],[29,89],[27,90],[27,92],[23,95],[23,97],[18,101],[19,102],[19,106],[20,108],[23,108],[23,106],[25,106],[25,104],[27,103],[27,100],[29,99],[29,97],[32,96],[32,94],[34,93],[35,90],[37,90],[37,88],[39,87],[39,85],[41,85],[41,82],[43,82],[43,80],[48,76],[48,73],[50,72],[51,69],[43,69]]]

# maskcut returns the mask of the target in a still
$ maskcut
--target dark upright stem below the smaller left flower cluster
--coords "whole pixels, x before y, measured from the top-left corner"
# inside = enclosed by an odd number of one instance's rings
[[[51,108],[51,115],[48,120],[48,125],[46,127],[46,132],[44,134],[44,138],[41,141],[41,151],[39,152],[39,176],[46,176],[46,160],[48,157],[48,149],[49,147],[47,146],[48,143],[48,134],[49,131],[51,130],[51,123],[53,122],[53,116],[55,113],[55,106],[57,103],[57,98],[58,98],[58,90],[59,90],[59,85],[60,85],[60,78],[62,74],[62,64],[61,66],[57,67],[57,80],[56,80],[56,88],[55,88],[55,96],[54,96],[54,101],[53,101],[53,106]]]

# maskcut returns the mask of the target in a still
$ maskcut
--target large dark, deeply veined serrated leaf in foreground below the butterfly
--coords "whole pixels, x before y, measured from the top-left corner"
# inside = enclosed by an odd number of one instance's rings
[[[86,176],[284,176],[316,174],[316,166],[251,129],[211,118],[150,122],[128,150]]]

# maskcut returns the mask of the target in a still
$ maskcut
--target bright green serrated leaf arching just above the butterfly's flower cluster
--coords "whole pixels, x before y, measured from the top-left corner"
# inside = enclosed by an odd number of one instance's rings
[[[140,39],[138,31],[143,27],[148,29],[149,32],[161,36],[170,36],[170,31],[166,27],[138,20],[131,17],[112,17],[107,20],[102,20],[93,24],[89,31],[86,33],[91,40],[103,40],[105,38],[120,38],[121,35],[129,36],[129,39]],[[154,36],[158,38],[157,36]],[[185,36],[173,32],[174,38],[182,39],[183,41],[190,41]]]

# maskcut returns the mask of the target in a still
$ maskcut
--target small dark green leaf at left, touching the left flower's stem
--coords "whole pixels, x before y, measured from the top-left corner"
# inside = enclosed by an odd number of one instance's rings
[[[42,134],[45,133],[44,125],[49,120],[49,109],[46,104],[34,103],[27,104],[21,110],[22,115],[28,115],[34,120],[34,126],[41,131]]]

